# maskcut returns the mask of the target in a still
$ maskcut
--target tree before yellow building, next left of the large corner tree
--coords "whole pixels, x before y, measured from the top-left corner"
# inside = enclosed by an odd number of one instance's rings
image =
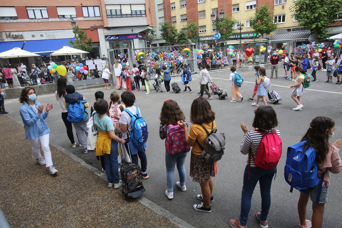
[[[268,3],[261,4],[255,10],[254,16],[249,20],[251,27],[264,37],[264,33],[276,30],[274,24],[273,12]]]

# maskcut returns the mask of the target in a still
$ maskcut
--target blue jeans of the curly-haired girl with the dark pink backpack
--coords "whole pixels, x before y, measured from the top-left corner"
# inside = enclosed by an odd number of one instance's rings
[[[174,166],[177,164],[177,170],[179,174],[179,181],[181,186],[185,185],[185,168],[184,163],[188,153],[179,153],[177,155],[170,155],[169,152],[165,153],[166,173],[168,181],[168,192],[173,192],[174,182]]]

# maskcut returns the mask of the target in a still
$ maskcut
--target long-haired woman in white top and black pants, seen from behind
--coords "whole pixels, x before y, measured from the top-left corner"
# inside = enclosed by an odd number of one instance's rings
[[[62,120],[66,127],[66,133],[68,135],[68,138],[71,142],[72,147],[76,147],[76,142],[74,140],[74,133],[73,133],[73,124],[67,120],[68,117],[68,111],[65,108],[64,103],[64,95],[65,92],[65,86],[66,86],[67,79],[65,77],[58,78],[57,80],[57,90],[55,91],[56,100],[60,103],[61,109],[62,109]]]

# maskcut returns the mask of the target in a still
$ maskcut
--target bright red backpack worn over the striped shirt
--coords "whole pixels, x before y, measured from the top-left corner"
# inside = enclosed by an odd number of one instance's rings
[[[277,135],[277,130],[272,129],[271,133],[263,130],[255,131],[262,134],[262,138],[258,147],[257,156],[255,156],[254,165],[264,170],[273,169],[277,166],[282,151],[282,142],[279,135]],[[249,167],[251,166],[251,152],[250,150]]]

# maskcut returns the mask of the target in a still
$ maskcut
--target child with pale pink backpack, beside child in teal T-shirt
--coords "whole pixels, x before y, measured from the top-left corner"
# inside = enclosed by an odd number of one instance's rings
[[[123,133],[119,125],[121,113],[125,108],[126,107],[120,102],[120,95],[117,92],[112,92],[110,94],[108,113],[109,113],[109,118],[113,121],[114,133],[119,138],[127,138],[127,132]],[[123,155],[125,161],[127,163],[131,163],[131,159],[129,158],[126,147],[128,147],[127,144],[125,144],[124,146],[119,144],[119,150],[120,150],[119,153],[121,153],[121,155],[119,155],[120,160],[122,160],[122,155]]]

